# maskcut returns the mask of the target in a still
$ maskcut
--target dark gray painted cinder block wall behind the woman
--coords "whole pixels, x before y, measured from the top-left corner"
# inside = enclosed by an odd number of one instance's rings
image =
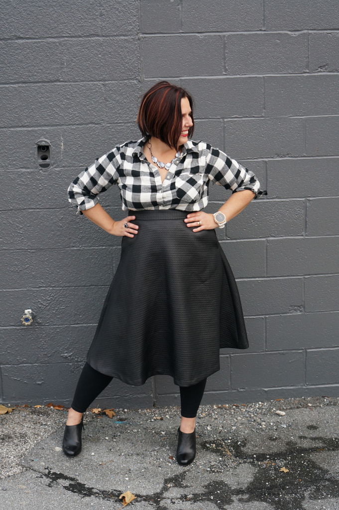
[[[339,395],[338,18],[335,0],[2,6],[4,403],[71,403],[121,238],[75,216],[66,190],[95,158],[141,137],[139,100],[159,79],[195,97],[193,139],[223,149],[268,190],[217,231],[250,349],[220,351],[202,403]],[[44,170],[40,138],[51,144]],[[229,196],[211,185],[206,211]],[[118,188],[100,202],[125,216]],[[20,320],[27,308],[31,326]],[[154,402],[179,405],[170,376],[139,387],[113,379],[96,404]]]

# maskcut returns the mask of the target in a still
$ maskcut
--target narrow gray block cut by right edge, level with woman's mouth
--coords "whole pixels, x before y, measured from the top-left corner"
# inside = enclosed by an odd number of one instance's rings
[[[338,155],[339,116],[307,117],[305,125],[306,155]]]

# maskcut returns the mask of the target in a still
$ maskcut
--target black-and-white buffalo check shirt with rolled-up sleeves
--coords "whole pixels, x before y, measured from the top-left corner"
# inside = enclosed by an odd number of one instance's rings
[[[158,167],[149,163],[143,146],[148,137],[117,145],[97,158],[69,185],[68,201],[76,214],[94,207],[98,194],[118,184],[122,210],[179,209],[200,211],[208,202],[209,181],[232,190],[267,195],[255,174],[210,144],[188,140],[162,183]]]

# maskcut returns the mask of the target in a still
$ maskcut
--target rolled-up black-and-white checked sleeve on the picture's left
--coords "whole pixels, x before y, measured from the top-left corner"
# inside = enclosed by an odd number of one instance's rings
[[[98,194],[108,190],[119,179],[120,145],[97,158],[71,182],[67,189],[68,201],[78,215],[91,209],[99,201]]]

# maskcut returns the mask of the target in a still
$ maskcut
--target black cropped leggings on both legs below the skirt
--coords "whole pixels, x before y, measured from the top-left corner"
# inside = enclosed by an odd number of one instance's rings
[[[84,413],[93,400],[108,386],[113,377],[102,374],[87,362],[77,382],[72,402],[72,409]],[[181,400],[181,416],[195,418],[205,390],[207,377],[192,386],[179,386]]]

